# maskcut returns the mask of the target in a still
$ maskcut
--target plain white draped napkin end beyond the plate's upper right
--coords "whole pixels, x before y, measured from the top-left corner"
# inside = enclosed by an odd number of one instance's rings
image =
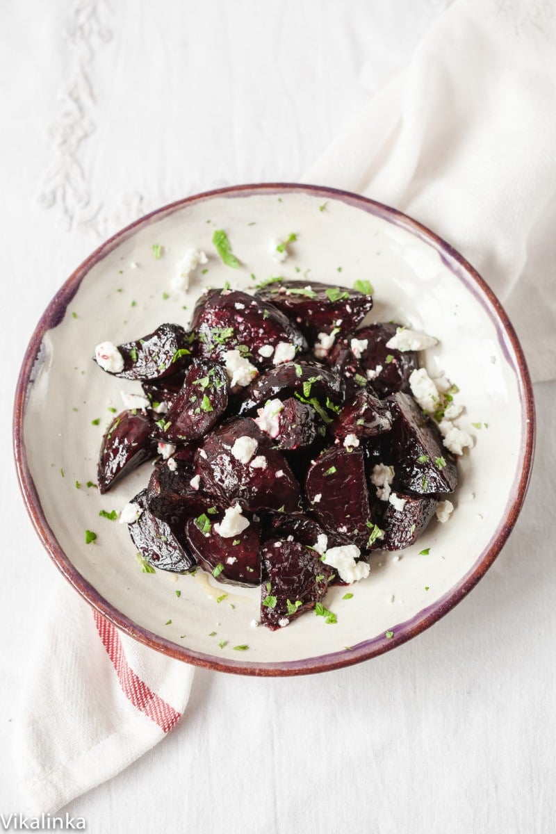
[[[387,203],[498,294],[534,380],[556,369],[556,13],[459,0],[304,181]]]

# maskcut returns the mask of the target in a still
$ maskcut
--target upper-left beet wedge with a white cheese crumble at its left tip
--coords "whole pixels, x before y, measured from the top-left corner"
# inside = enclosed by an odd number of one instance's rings
[[[123,370],[113,375],[123,379],[164,379],[188,363],[191,341],[178,324],[161,324],[143,339],[118,345]]]

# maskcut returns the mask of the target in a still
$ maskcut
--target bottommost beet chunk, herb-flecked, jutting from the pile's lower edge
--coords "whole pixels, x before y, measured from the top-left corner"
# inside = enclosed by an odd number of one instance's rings
[[[315,550],[297,541],[271,539],[264,543],[261,557],[263,625],[276,631],[323,601],[330,569]]]

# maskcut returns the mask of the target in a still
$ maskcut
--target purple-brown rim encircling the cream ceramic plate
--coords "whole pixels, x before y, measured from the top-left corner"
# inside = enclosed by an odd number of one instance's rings
[[[506,504],[503,516],[495,530],[488,545],[483,549],[478,559],[473,564],[472,568],[468,570],[467,574],[463,575],[458,580],[456,585],[446,592],[442,597],[433,602],[432,605],[420,610],[417,615],[414,615],[408,620],[395,626],[393,637],[387,638],[386,635],[374,637],[365,640],[358,644],[358,646],[350,647],[348,651],[336,651],[329,654],[324,654],[311,658],[303,658],[298,661],[277,661],[277,662],[252,662],[252,661],[233,661],[227,659],[220,659],[218,657],[207,655],[202,652],[193,651],[187,646],[178,646],[173,641],[158,636],[152,631],[143,628],[133,622],[127,615],[124,615],[114,605],[105,600],[102,595],[91,585],[88,580],[85,580],[77,568],[74,567],[59,545],[56,536],[48,525],[48,521],[44,515],[41,502],[38,497],[38,491],[33,482],[33,476],[28,466],[27,452],[24,442],[24,418],[25,407],[28,399],[28,392],[33,385],[33,368],[40,353],[43,336],[63,319],[68,304],[71,303],[74,295],[78,292],[79,286],[83,279],[88,274],[89,270],[95,264],[103,259],[112,249],[123,240],[132,235],[136,229],[143,225],[147,225],[153,220],[163,219],[170,214],[180,210],[190,203],[201,202],[213,197],[245,197],[256,193],[273,194],[273,193],[307,193],[310,196],[318,196],[319,198],[339,199],[343,203],[348,203],[356,208],[361,208],[368,214],[373,214],[381,219],[387,220],[405,229],[409,233],[416,236],[418,239],[427,243],[435,249],[443,264],[455,276],[466,284],[467,288],[473,293],[479,303],[483,305],[489,318],[497,330],[498,337],[503,336],[505,348],[508,354],[508,361],[513,366],[516,380],[518,383],[518,397],[521,406],[521,442],[519,449],[518,464],[516,465],[516,476],[513,480],[513,485],[508,495],[508,502]],[[391,208],[383,203],[363,197],[362,195],[345,191],[340,188],[330,188],[322,185],[312,185],[303,183],[246,183],[242,185],[228,186],[226,188],[216,188],[203,193],[193,194],[190,197],[177,200],[162,208],[157,208],[152,212],[143,215],[143,217],[135,220],[124,229],[121,229],[116,234],[113,234],[103,244],[98,246],[82,264],[69,276],[69,278],[58,289],[53,299],[45,309],[43,315],[38,321],[33,335],[29,340],[28,348],[23,357],[22,367],[18,377],[16,386],[15,401],[13,408],[13,454],[15,459],[16,470],[18,474],[19,487],[23,495],[23,501],[28,511],[28,515],[33,523],[33,526],[41,540],[44,548],[48,551],[54,564],[61,571],[69,584],[73,586],[74,590],[88,602],[89,605],[96,609],[100,614],[113,622],[121,631],[133,639],[143,643],[145,646],[162,652],[168,657],[185,661],[194,666],[202,666],[213,671],[224,671],[236,674],[243,674],[248,676],[293,676],[304,675],[310,673],[317,673],[322,671],[330,671],[333,669],[343,668],[344,666],[353,666],[353,664],[367,661],[372,657],[379,656],[386,651],[392,651],[397,646],[402,645],[413,637],[418,636],[422,631],[428,629],[435,622],[440,620],[444,615],[452,610],[463,597],[468,595],[469,591],[477,585],[478,581],[482,579],[488,568],[493,564],[493,561],[498,556],[503,545],[508,540],[513,525],[518,518],[519,512],[523,507],[523,501],[528,489],[528,483],[533,466],[533,453],[535,445],[535,409],[533,400],[533,386],[528,372],[527,363],[523,354],[523,349],[519,344],[518,336],[513,329],[513,325],[508,319],[502,304],[499,302],[493,290],[481,278],[477,270],[453,249],[451,244],[434,234],[423,224],[418,223],[407,214],[399,212],[396,208]]]

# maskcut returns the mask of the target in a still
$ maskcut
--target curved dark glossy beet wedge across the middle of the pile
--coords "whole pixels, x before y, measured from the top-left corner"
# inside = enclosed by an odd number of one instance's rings
[[[298,394],[323,409],[327,398],[341,403],[344,398],[343,379],[333,371],[314,362],[284,362],[255,379],[243,393],[239,414],[249,414],[267,399],[287,399]],[[326,414],[326,413],[325,413]]]

